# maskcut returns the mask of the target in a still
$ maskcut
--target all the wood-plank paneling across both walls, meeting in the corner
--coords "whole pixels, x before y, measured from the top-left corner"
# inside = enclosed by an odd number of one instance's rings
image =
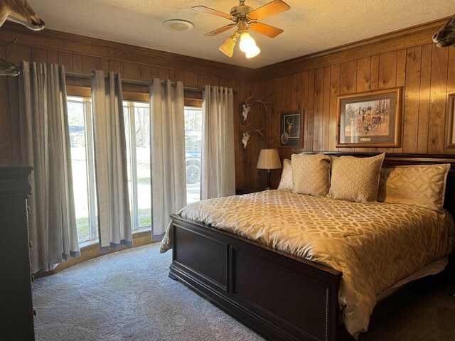
[[[8,60],[58,63],[66,70],[95,69],[121,72],[122,77],[181,80],[184,85],[232,87],[234,97],[236,185],[264,188],[267,172],[256,168],[261,148],[279,147],[279,112],[304,110],[304,151],[336,151],[336,105],[338,94],[403,87],[402,146],[355,148],[355,151],[404,153],[455,153],[446,148],[446,97],[455,93],[455,47],[437,48],[432,34],[446,18],[315,55],[269,65],[257,70],[189,58],[162,51],[112,43],[69,33],[27,31],[7,23],[0,40],[18,36],[14,45],[0,48]],[[233,77],[232,75],[235,75]],[[69,80],[87,86],[87,81]],[[17,78],[0,77],[0,165],[21,162],[18,129]],[[127,91],[146,91],[125,85]],[[245,125],[238,107],[247,97],[264,97],[267,111],[255,105]],[[264,138],[253,136],[244,150],[242,129],[263,129]],[[282,158],[296,151],[279,148]],[[272,171],[273,185],[280,171]]]

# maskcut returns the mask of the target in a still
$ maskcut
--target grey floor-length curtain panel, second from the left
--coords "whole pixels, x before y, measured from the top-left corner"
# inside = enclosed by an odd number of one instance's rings
[[[92,79],[95,174],[100,251],[133,244],[129,212],[127,142],[120,75],[95,71]]]

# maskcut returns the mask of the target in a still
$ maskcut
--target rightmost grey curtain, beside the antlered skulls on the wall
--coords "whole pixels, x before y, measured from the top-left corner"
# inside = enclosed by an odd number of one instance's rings
[[[201,200],[235,195],[233,98],[231,88],[203,90]]]

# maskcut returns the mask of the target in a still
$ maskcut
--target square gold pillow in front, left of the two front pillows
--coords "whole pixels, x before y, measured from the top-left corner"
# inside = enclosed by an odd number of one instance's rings
[[[326,196],[330,188],[330,157],[324,154],[293,154],[292,192]]]

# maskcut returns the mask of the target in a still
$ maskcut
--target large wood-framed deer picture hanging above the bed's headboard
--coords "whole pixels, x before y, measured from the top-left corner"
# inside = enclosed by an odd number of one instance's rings
[[[402,88],[338,96],[337,147],[400,147]]]

